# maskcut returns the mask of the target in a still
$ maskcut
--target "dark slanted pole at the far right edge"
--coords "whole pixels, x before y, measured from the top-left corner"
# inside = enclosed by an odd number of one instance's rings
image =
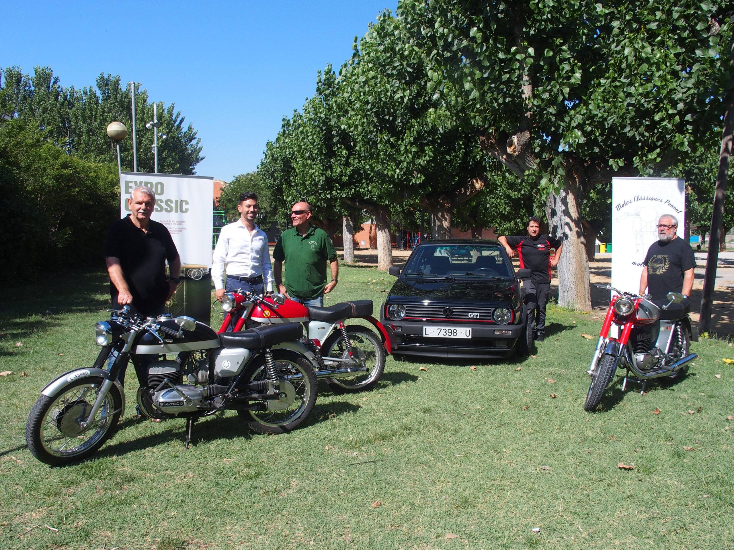
[[[734,38],[730,45],[731,65],[734,67]],[[734,92],[729,92],[729,104],[724,111],[724,130],[722,131],[722,148],[719,153],[719,171],[716,174],[716,191],[713,194],[713,213],[711,230],[708,233],[708,254],[706,270],[703,274],[703,292],[698,329],[701,332],[711,331],[711,306],[713,305],[713,287],[716,285],[716,264],[719,263],[719,233],[724,217],[724,196],[727,191],[727,175],[729,159],[732,154],[732,133],[734,131]],[[724,238],[726,238],[724,236]]]

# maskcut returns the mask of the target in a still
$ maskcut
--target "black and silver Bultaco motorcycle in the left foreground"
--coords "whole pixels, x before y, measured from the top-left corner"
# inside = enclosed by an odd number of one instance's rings
[[[257,432],[293,430],[316,402],[316,357],[299,341],[302,333],[299,324],[284,323],[217,334],[190,317],[144,319],[128,306],[113,311],[95,327],[102,349],[92,367],[64,373],[41,392],[26,424],[28,448],[52,466],[96,452],[125,411],[117,375],[128,361],[139,382],[140,412],[186,418],[185,448],[196,419],[228,409]],[[141,362],[164,354],[175,359]]]

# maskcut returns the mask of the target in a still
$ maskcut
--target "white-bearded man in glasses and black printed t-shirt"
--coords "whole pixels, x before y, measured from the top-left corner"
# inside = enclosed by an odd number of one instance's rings
[[[640,276],[640,294],[647,289],[653,301],[667,304],[665,296],[669,292],[679,292],[684,298],[691,296],[693,287],[693,270],[696,257],[691,245],[677,235],[678,220],[675,216],[665,214],[658,220],[659,241],[650,245],[644,257],[644,268]],[[683,307],[687,303],[672,304]]]

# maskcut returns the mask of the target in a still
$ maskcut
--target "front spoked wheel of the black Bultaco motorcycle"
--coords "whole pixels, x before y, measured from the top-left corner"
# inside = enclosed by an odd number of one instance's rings
[[[37,399],[26,424],[26,443],[35,458],[51,466],[79,461],[112,436],[123,406],[115,385],[109,389],[94,422],[87,428],[80,425],[90,414],[103,381],[101,377],[81,378],[53,397],[41,395]]]

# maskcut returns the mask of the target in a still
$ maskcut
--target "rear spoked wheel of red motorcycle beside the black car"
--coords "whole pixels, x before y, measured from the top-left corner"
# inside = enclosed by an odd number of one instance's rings
[[[353,378],[330,378],[329,386],[341,392],[360,392],[374,388],[385,370],[385,348],[382,347],[382,340],[374,331],[359,325],[346,326],[346,334],[352,342],[352,357],[357,357],[355,366],[367,367],[367,372]],[[321,347],[321,355],[324,361],[328,361],[329,357],[349,359],[349,351],[346,350],[341,331],[335,331],[327,338]],[[347,365],[337,364],[338,367]]]

